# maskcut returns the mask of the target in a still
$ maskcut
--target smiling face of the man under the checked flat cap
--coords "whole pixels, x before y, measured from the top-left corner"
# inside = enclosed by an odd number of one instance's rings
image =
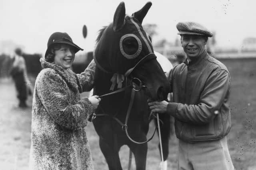
[[[205,50],[207,41],[202,35],[182,35],[181,45],[189,59],[194,59]]]

